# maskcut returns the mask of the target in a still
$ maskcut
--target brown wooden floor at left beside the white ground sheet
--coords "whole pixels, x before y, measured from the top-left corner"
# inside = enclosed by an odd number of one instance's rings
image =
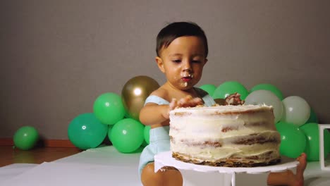
[[[28,151],[14,149],[13,146],[0,146],[0,167],[12,163],[43,163],[79,153],[75,147],[36,147]]]

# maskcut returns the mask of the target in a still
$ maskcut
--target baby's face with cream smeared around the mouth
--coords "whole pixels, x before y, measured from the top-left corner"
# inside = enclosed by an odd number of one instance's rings
[[[202,77],[207,62],[202,39],[195,36],[178,37],[161,50],[161,71],[168,82],[177,89],[190,89]]]

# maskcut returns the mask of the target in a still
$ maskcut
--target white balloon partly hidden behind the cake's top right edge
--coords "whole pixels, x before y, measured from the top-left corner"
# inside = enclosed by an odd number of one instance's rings
[[[276,96],[273,92],[265,89],[259,89],[251,92],[245,98],[245,104],[266,104],[268,106],[273,106],[275,123],[277,123],[282,118],[283,104],[281,99]]]

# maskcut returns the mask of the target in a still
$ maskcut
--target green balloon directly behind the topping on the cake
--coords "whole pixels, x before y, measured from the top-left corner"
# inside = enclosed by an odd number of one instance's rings
[[[234,94],[236,92],[240,94],[240,99],[242,100],[244,100],[245,97],[247,97],[247,94],[249,94],[247,89],[242,84],[240,84],[240,82],[228,81],[222,83],[221,85],[219,85],[219,87],[216,87],[213,93],[213,98],[226,99],[226,97],[228,97],[230,94]]]

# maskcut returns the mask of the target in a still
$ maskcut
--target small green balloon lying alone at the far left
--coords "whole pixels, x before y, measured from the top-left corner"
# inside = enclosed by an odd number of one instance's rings
[[[35,144],[37,144],[38,140],[38,132],[31,126],[24,126],[19,128],[13,136],[15,147],[18,147],[18,149],[22,150],[32,149],[35,147]]]

